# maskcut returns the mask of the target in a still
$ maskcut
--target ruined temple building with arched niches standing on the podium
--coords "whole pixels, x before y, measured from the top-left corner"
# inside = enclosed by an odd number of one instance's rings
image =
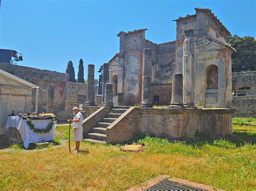
[[[183,103],[230,108],[232,102],[231,35],[210,9],[195,8],[179,17],[176,41],[155,44],[145,39],[147,29],[121,31],[119,53],[109,63],[114,105],[142,102],[143,51],[151,50],[151,101],[169,105],[174,73],[183,74]]]

